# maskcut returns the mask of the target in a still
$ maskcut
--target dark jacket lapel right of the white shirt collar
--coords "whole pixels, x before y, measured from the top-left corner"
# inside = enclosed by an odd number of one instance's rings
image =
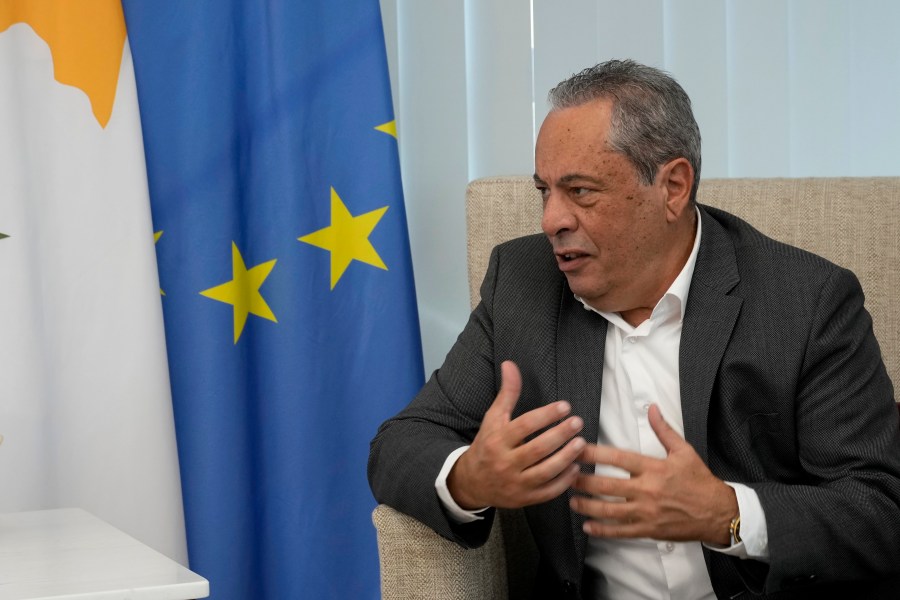
[[[703,206],[700,215],[703,230],[682,323],[679,378],[685,439],[707,462],[712,388],[743,299],[729,295],[740,281],[733,242]]]

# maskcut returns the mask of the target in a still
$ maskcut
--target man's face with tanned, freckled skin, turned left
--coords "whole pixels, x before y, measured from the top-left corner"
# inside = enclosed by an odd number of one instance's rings
[[[684,264],[673,251],[683,252],[674,250],[662,170],[642,185],[607,146],[611,110],[594,100],[544,120],[535,148],[541,227],[574,293],[598,310],[649,315]]]

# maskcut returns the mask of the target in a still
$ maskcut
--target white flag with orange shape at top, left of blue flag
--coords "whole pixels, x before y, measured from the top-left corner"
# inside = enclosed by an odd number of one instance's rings
[[[0,0],[0,512],[185,563],[153,244],[119,0]]]

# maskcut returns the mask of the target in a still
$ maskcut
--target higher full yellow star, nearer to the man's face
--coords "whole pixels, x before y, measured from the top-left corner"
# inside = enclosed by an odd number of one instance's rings
[[[369,241],[369,234],[387,211],[387,206],[354,217],[340,196],[331,188],[331,225],[297,238],[331,252],[331,289],[337,285],[350,262],[358,260],[387,271],[387,267]]]

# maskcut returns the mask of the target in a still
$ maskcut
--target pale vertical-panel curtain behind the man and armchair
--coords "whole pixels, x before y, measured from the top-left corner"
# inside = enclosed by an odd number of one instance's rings
[[[426,370],[468,315],[466,182],[528,174],[547,91],[633,58],[685,87],[704,177],[900,175],[900,2],[382,0]]]

